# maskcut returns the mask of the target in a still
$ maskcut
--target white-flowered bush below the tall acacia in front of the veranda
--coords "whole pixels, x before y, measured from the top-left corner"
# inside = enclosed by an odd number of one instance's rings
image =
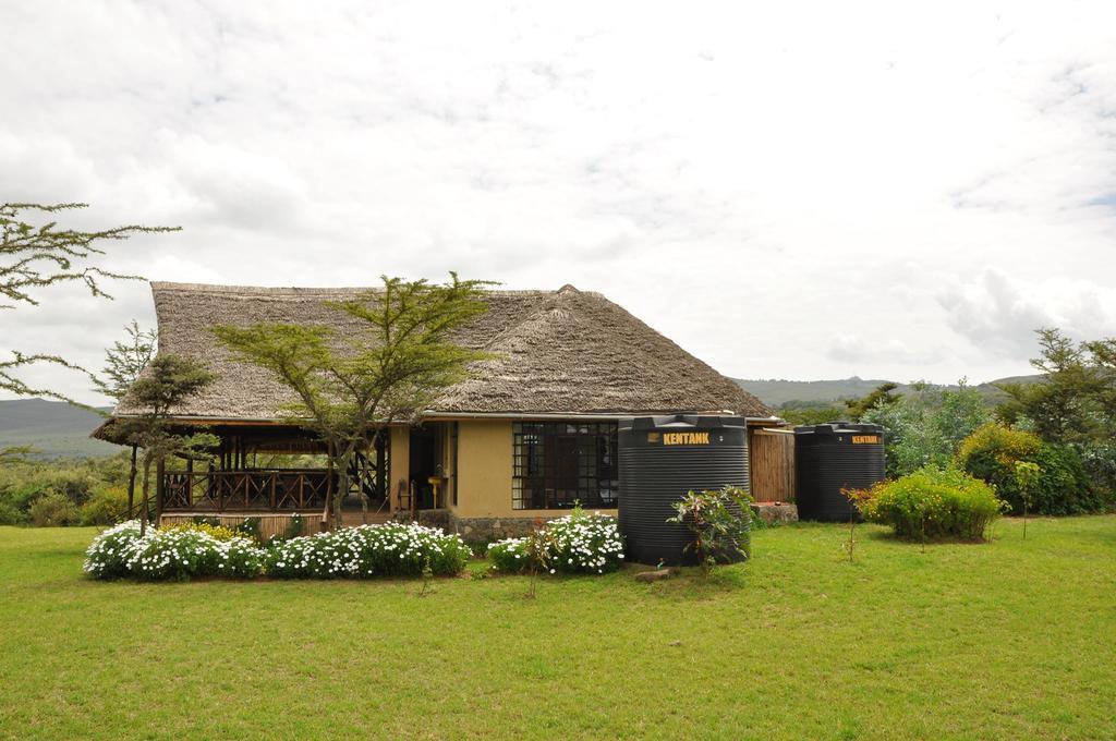
[[[421,576],[460,574],[472,551],[458,536],[417,523],[362,525],[276,543],[267,570],[276,577]]]

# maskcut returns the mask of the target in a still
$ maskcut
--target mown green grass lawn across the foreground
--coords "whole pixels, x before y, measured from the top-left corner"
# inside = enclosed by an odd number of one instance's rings
[[[1116,737],[1116,517],[988,545],[754,536],[656,585],[102,584],[0,528],[0,737]],[[482,565],[478,564],[475,570]]]

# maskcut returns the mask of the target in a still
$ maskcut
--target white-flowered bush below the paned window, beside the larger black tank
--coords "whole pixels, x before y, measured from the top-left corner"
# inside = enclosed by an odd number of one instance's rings
[[[624,560],[624,540],[616,518],[587,514],[580,507],[546,529],[526,538],[508,538],[489,546],[488,556],[498,571],[516,574],[530,567],[532,539],[545,551],[551,574],[604,574],[615,571]]]

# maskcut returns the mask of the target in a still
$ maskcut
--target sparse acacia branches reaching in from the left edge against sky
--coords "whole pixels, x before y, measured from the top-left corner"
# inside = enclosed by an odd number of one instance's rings
[[[177,231],[177,227],[142,227],[129,224],[95,231],[59,228],[58,222],[48,221],[32,224],[26,221],[26,212],[55,214],[88,208],[86,203],[3,203],[0,204],[0,310],[15,309],[20,305],[38,306],[36,291],[59,283],[83,283],[89,292],[99,298],[113,297],[103,288],[105,279],[140,280],[138,276],[127,276],[97,267],[95,261],[105,254],[102,244],[113,240],[124,240],[136,234]],[[3,348],[0,348],[3,349]],[[0,391],[17,396],[45,396],[71,402],[65,395],[49,388],[36,388],[17,377],[18,369],[36,365],[52,364],[93,375],[59,355],[42,353],[20,353],[7,349],[11,357],[0,359]]]

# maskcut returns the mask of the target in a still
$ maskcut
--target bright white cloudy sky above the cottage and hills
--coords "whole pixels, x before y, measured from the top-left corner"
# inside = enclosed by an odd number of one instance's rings
[[[574,283],[738,377],[1116,334],[1116,3],[743,4],[0,0],[0,202],[181,225],[112,246],[154,280]],[[113,292],[0,348],[97,366]]]

